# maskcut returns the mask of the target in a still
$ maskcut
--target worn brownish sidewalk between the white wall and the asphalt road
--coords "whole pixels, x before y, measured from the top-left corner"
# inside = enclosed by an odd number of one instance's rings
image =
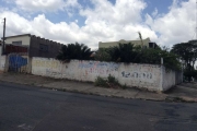
[[[182,84],[166,93],[153,93],[138,88],[104,88],[94,86],[93,83],[56,80],[20,73],[0,73],[0,81],[107,97],[138,98],[144,100],[197,102],[197,84]]]

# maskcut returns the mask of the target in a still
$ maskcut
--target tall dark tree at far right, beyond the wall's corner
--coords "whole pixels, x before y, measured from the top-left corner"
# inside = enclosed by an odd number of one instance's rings
[[[188,43],[176,44],[172,47],[171,51],[179,56],[179,60],[184,64],[184,75],[190,82],[192,76],[195,76],[194,64],[197,60],[197,41],[190,40]]]

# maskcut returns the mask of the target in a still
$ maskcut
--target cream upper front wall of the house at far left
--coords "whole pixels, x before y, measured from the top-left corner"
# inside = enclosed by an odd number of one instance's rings
[[[22,45],[30,45],[30,36],[18,36],[18,37],[8,37],[5,44],[12,44],[12,41],[22,41]]]

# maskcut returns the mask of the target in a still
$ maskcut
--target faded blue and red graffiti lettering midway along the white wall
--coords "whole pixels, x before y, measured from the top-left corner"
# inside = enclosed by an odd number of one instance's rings
[[[119,64],[117,63],[109,63],[109,62],[100,62],[100,61],[81,61],[79,63],[79,69],[85,71],[85,74],[101,74],[101,75],[108,75],[111,73],[115,73],[118,70]]]

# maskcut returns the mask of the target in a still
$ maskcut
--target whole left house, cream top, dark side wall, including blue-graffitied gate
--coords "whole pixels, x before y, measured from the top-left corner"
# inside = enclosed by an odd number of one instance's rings
[[[3,71],[31,73],[32,58],[56,58],[62,44],[40,38],[31,34],[5,37],[3,56],[5,63]],[[2,46],[1,46],[2,47]]]

